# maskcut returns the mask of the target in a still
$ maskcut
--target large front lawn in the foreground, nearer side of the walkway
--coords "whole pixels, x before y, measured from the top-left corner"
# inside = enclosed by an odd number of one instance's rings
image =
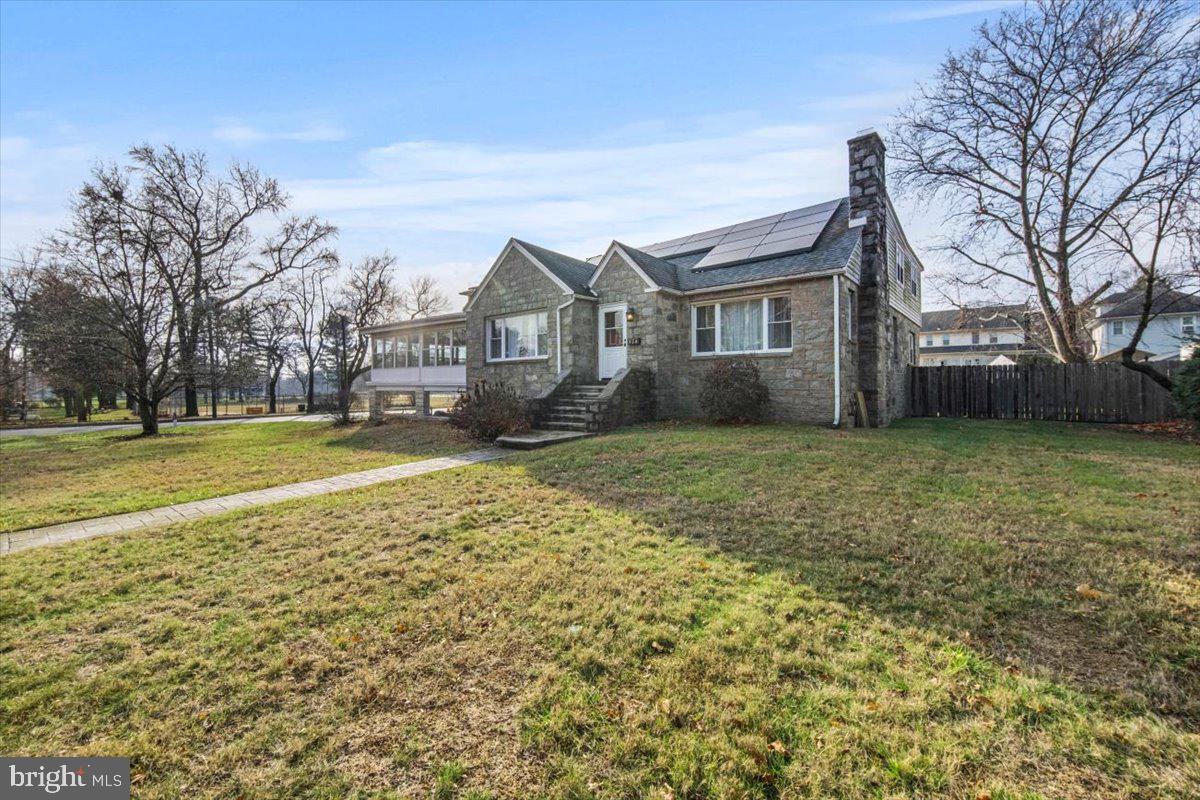
[[[0,752],[144,798],[1195,798],[1198,475],[1086,426],[652,426],[17,553]]]

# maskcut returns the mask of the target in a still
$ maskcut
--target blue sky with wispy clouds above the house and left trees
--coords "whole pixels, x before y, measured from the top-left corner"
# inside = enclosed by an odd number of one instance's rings
[[[6,1],[0,249],[174,143],[457,291],[510,235],[587,257],[845,193],[845,140],[1003,5]]]

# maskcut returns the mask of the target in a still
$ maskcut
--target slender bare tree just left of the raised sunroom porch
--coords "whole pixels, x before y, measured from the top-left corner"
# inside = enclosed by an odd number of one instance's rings
[[[367,327],[384,321],[400,300],[389,253],[368,255],[350,267],[322,327],[326,343],[325,361],[337,383],[337,416],[350,421],[354,381],[371,365],[367,361]]]

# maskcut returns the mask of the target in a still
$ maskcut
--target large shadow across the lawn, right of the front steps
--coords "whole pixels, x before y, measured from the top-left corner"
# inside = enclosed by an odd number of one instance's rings
[[[864,613],[1200,729],[1194,446],[1045,422],[667,423],[524,467]]]

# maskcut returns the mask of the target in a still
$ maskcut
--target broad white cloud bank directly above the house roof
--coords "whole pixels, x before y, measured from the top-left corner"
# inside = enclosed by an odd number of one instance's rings
[[[590,255],[613,237],[648,243],[842,194],[845,134],[791,125],[629,146],[398,142],[365,152],[362,178],[288,190],[298,210],[343,230],[470,235],[496,247],[521,235]]]

